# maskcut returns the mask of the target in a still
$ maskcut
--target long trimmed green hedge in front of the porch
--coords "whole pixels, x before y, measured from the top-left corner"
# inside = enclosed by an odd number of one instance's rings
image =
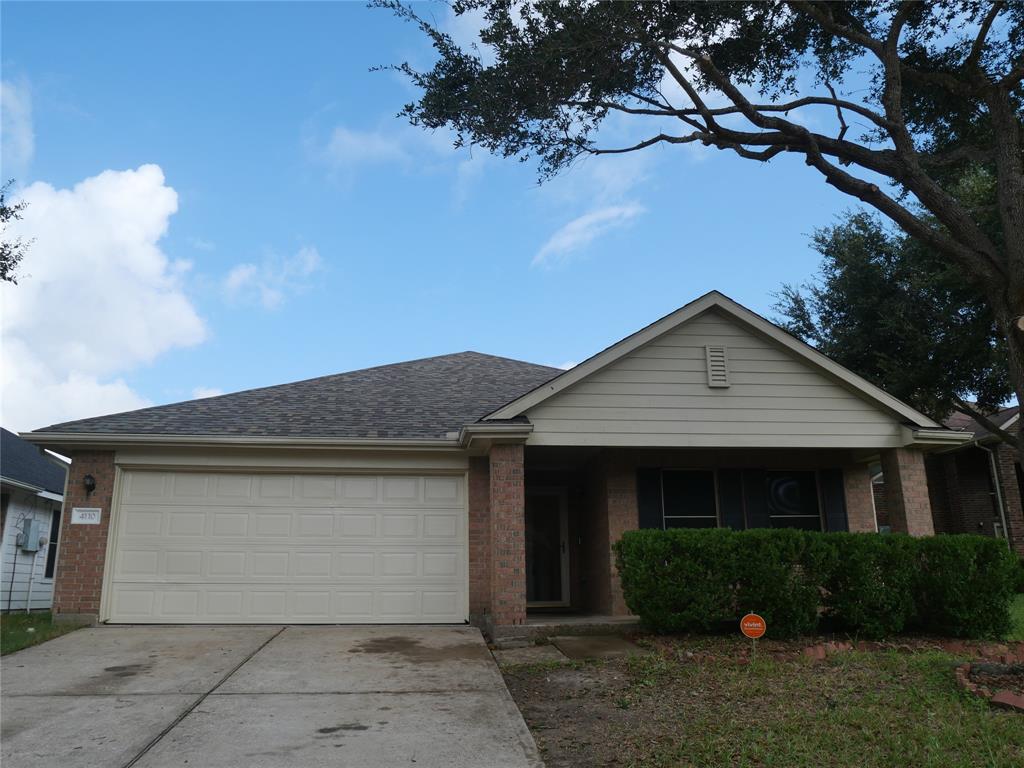
[[[615,545],[630,610],[657,632],[712,632],[753,611],[769,637],[822,622],[863,637],[1000,637],[1017,558],[977,536],[723,528],[631,530]]]

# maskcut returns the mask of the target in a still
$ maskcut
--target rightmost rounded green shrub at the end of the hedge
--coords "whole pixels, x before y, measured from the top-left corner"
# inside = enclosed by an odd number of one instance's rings
[[[1017,558],[1001,539],[936,536],[915,540],[916,624],[954,637],[1001,637],[1010,631]]]

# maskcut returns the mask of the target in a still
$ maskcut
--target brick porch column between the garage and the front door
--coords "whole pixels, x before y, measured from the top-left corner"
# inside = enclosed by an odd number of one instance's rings
[[[526,496],[523,445],[490,447],[490,624],[526,622]]]

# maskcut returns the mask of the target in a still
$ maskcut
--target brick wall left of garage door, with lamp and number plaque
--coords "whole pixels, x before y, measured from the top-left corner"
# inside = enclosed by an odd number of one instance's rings
[[[68,476],[68,497],[60,516],[60,544],[53,589],[54,615],[99,615],[99,596],[103,588],[103,562],[106,535],[114,498],[114,453],[83,451],[72,455]],[[91,474],[96,489],[88,497],[82,478]],[[98,525],[72,525],[74,507],[99,507],[103,510]]]

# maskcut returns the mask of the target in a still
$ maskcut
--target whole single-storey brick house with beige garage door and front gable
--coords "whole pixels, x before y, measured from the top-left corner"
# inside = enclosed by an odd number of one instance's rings
[[[477,352],[46,427],[55,610],[114,623],[624,615],[638,527],[933,532],[952,431],[713,292],[569,371]],[[86,480],[95,483],[91,494]]]

